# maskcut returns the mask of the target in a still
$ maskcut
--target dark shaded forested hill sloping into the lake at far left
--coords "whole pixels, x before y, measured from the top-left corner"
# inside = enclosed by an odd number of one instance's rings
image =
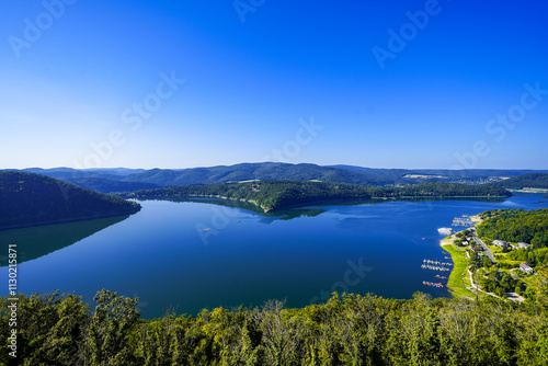
[[[0,172],[0,229],[136,213],[140,205],[45,175]]]

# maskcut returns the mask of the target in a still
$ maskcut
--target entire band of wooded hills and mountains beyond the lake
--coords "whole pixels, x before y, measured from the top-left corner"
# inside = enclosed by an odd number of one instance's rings
[[[0,229],[111,217],[139,210],[137,203],[103,194],[115,192],[124,197],[137,197],[130,193],[139,193],[144,197],[170,196],[173,192],[189,196],[226,196],[260,202],[265,210],[272,210],[324,199],[505,196],[510,194],[505,188],[548,188],[548,173],[524,172],[414,171],[287,163],[242,163],[182,170],[58,168],[0,171]],[[254,181],[264,182],[261,186],[265,191],[256,193],[255,185],[262,182]],[[227,185],[241,182],[248,182],[248,191],[241,191],[247,187],[244,184]],[[338,191],[339,184],[353,185],[347,187],[349,192],[342,192]],[[183,191],[176,191],[178,186]],[[300,193],[295,196],[296,192]]]

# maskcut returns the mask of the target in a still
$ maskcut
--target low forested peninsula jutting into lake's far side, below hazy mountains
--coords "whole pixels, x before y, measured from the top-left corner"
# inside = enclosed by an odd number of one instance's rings
[[[264,211],[308,204],[367,198],[402,197],[507,197],[510,192],[487,185],[422,183],[407,187],[379,187],[326,182],[254,181],[210,185],[169,186],[122,194],[140,199],[176,199],[207,196],[251,202]]]

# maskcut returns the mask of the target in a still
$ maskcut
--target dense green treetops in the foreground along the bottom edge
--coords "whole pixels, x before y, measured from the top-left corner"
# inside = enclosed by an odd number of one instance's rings
[[[3,365],[541,365],[548,361],[545,298],[412,300],[333,296],[285,309],[203,310],[141,320],[138,299],[102,290],[93,312],[76,295],[20,295],[16,358],[10,308],[0,298]]]

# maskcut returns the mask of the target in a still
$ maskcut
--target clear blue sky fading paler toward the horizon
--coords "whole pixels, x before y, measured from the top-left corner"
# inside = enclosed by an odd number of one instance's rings
[[[546,1],[0,7],[0,169],[548,169]]]

